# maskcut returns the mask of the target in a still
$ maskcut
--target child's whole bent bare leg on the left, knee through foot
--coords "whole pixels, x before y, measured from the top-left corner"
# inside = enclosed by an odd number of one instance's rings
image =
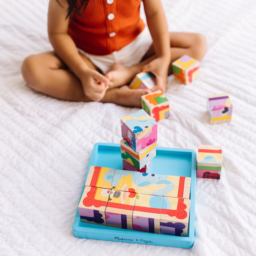
[[[87,61],[85,59],[85,61]],[[95,68],[89,62],[90,68]],[[96,69],[96,68],[95,68]],[[54,54],[48,52],[26,58],[22,74],[27,84],[34,90],[54,98],[70,101],[92,101],[84,95],[80,80]],[[128,86],[107,90],[102,102],[113,102],[125,106],[140,106],[141,95],[150,91],[132,90]]]

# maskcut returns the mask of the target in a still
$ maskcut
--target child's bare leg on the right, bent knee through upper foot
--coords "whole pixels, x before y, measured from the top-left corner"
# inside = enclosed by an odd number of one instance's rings
[[[170,32],[171,45],[171,61],[178,59],[187,54],[199,61],[202,60],[206,53],[205,37],[197,33]],[[148,52],[138,65],[126,68],[120,63],[112,66],[111,70],[106,74],[111,80],[111,87],[118,87],[129,84],[133,77],[140,72],[141,68],[155,58],[155,50],[152,45]],[[169,66],[169,74],[172,74],[172,65]]]

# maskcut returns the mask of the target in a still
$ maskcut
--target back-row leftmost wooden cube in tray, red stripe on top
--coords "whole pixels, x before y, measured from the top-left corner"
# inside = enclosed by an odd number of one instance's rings
[[[85,186],[111,188],[112,179],[109,177],[114,175],[115,169],[91,166],[85,181]],[[108,175],[106,175],[108,173]],[[107,178],[108,177],[108,178]]]

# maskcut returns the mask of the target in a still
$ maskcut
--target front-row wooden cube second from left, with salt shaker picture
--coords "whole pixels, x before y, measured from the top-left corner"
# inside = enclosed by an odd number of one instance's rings
[[[105,216],[108,227],[132,230],[132,212],[136,193],[111,190]]]

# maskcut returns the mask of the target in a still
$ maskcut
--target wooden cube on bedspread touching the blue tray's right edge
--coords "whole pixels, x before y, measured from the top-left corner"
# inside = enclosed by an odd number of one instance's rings
[[[222,146],[199,145],[197,177],[219,179],[222,168]]]

